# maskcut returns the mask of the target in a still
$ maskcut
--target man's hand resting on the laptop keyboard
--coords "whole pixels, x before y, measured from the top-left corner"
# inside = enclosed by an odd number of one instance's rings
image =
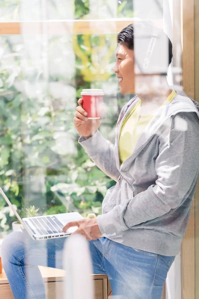
[[[100,232],[96,218],[81,219],[81,220],[69,222],[63,227],[62,231],[66,232],[69,228],[73,226],[77,226],[78,229],[72,235],[74,234],[84,235],[89,241],[96,240],[103,237]]]

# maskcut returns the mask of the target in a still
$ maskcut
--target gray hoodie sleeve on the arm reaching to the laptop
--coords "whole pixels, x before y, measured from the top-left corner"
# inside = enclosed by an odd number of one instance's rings
[[[196,113],[179,113],[173,120],[174,128],[165,129],[159,137],[155,184],[97,217],[104,237],[180,207],[196,186],[199,173],[198,116]]]

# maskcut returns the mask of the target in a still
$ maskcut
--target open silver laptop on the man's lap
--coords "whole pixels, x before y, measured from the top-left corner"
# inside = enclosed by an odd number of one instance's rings
[[[69,237],[74,231],[77,230],[77,226],[71,227],[66,232],[62,232],[62,228],[71,221],[83,219],[78,212],[63,213],[49,216],[37,216],[22,218],[19,216],[3,190],[0,188],[0,193],[12,209],[17,219],[23,225],[28,232],[29,236],[33,240],[45,240],[51,238],[63,238]]]

